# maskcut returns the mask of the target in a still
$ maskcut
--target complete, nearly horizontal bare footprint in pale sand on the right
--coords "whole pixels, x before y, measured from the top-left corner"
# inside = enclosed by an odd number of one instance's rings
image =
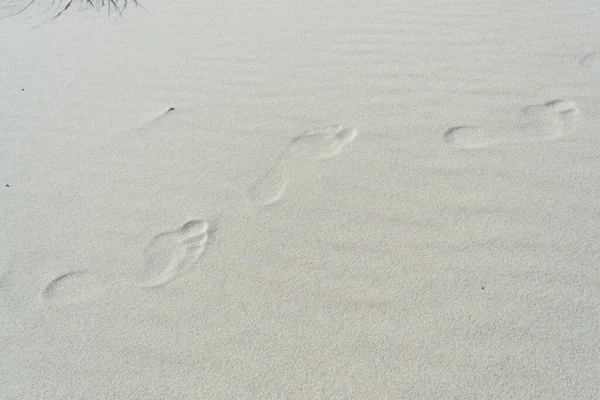
[[[569,100],[552,100],[523,107],[508,127],[486,129],[456,126],[444,133],[444,141],[461,149],[481,149],[508,143],[552,141],[574,132],[577,105]]]

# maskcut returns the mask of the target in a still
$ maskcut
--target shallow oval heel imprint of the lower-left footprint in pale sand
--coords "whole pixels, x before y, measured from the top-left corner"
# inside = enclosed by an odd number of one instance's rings
[[[106,285],[97,276],[84,271],[72,271],[52,279],[42,291],[42,299],[70,304],[91,298],[105,289]]]

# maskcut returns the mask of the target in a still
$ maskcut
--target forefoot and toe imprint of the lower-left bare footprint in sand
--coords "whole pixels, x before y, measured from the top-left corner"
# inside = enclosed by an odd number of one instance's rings
[[[192,220],[175,231],[155,236],[146,248],[143,287],[158,287],[187,272],[204,252],[208,222]]]

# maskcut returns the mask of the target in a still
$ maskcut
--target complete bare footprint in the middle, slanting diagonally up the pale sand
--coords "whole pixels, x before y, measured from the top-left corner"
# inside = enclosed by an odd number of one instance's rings
[[[283,154],[264,175],[248,189],[252,202],[268,206],[278,202],[288,185],[285,170],[299,163],[298,158],[327,159],[338,155],[358,135],[355,128],[329,125],[312,129],[294,137]]]

